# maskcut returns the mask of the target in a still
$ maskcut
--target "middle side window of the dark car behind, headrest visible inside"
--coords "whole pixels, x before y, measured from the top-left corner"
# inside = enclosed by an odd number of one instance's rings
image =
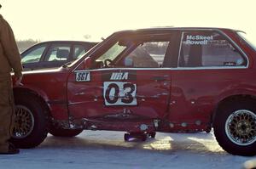
[[[70,54],[70,45],[54,44],[49,48],[44,61],[61,61],[67,60]]]

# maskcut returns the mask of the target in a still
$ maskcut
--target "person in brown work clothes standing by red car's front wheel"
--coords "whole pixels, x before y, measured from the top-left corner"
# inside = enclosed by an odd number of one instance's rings
[[[9,143],[15,115],[13,83],[10,75],[12,69],[15,72],[15,85],[20,85],[22,80],[20,53],[9,23],[0,14],[0,154],[20,152],[14,144]]]

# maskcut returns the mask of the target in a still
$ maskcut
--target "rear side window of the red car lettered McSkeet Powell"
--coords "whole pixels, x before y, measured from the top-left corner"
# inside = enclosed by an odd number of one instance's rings
[[[179,67],[245,66],[247,60],[218,32],[185,31]]]

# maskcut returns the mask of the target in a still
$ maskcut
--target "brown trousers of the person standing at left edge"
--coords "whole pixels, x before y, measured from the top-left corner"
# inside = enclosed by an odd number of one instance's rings
[[[14,99],[10,76],[0,76],[0,152],[9,149],[9,138],[14,113]]]

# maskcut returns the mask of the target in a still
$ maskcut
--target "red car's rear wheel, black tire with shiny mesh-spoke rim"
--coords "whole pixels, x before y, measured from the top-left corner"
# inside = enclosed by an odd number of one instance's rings
[[[218,144],[232,155],[256,155],[256,103],[249,99],[222,105],[213,128]]]

